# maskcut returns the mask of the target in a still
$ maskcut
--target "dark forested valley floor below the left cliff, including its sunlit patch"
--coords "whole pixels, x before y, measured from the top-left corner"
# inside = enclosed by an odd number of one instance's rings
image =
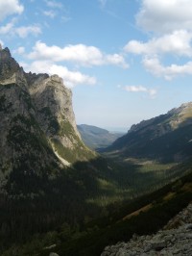
[[[41,175],[14,168],[0,194],[1,246],[28,241],[31,235],[57,230],[62,223],[81,228],[87,219],[108,216],[123,202],[166,184],[159,182],[156,172],[139,173],[139,168],[103,157],[55,173],[44,169]],[[171,171],[169,178],[179,175]]]

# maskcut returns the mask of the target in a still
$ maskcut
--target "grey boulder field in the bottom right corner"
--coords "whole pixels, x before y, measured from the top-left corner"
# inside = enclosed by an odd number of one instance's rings
[[[192,203],[171,219],[156,235],[140,237],[133,235],[130,242],[107,246],[101,254],[101,256],[140,255],[192,255]]]

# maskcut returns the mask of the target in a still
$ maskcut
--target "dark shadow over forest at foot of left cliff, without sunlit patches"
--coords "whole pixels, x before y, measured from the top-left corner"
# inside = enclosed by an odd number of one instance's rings
[[[94,198],[115,192],[102,188],[99,181],[119,186],[120,173],[101,157],[55,171],[45,167],[40,175],[28,167],[14,166],[1,189],[0,238],[5,243],[28,240],[63,222],[75,226],[84,224],[85,218],[100,217],[102,207]]]

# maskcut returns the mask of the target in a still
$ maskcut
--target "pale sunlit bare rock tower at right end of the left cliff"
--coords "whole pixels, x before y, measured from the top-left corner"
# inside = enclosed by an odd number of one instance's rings
[[[70,122],[75,133],[79,136],[72,108],[72,92],[65,88],[58,75],[34,83],[30,88],[30,94],[36,104],[39,123],[47,135],[54,135],[51,122],[55,119],[56,126],[57,124],[60,126],[62,122]]]

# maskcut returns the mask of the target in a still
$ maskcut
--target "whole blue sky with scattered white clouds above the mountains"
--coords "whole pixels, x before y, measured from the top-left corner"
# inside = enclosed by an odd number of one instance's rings
[[[191,101],[191,0],[0,0],[0,42],[60,75],[78,124],[128,130]]]

